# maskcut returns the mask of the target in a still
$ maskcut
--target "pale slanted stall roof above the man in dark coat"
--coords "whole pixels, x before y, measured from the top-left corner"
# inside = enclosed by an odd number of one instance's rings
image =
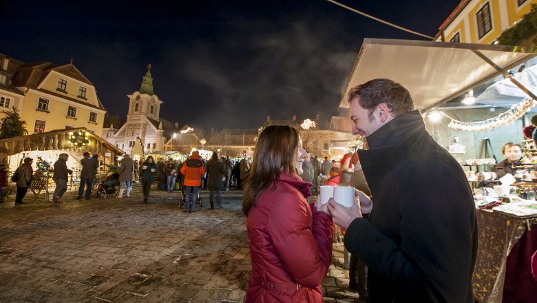
[[[501,70],[537,56],[519,46],[364,39],[339,106],[348,107],[352,87],[388,78],[406,87],[414,107],[425,112],[501,74],[479,54]]]

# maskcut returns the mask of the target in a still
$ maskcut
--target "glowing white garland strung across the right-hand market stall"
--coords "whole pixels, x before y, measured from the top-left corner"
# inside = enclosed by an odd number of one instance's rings
[[[494,127],[507,125],[509,123],[512,123],[516,121],[518,118],[524,116],[527,112],[529,112],[533,107],[537,105],[537,101],[530,97],[524,98],[523,101],[520,101],[520,103],[512,105],[512,107],[507,110],[507,112],[503,112],[499,114],[498,116],[495,116],[494,118],[489,118],[485,121],[477,121],[477,122],[462,122],[455,120],[454,118],[448,116],[444,112],[441,112],[444,116],[451,119],[450,124],[448,127],[452,129],[457,130],[468,130],[468,131],[481,131],[485,129],[492,129]]]

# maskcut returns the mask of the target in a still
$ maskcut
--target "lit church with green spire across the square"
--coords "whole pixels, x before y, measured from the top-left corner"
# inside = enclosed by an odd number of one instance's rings
[[[153,91],[151,64],[147,65],[140,90],[127,96],[127,121],[119,125],[117,116],[107,117],[102,132],[103,138],[127,154],[131,154],[136,138],[142,140],[145,153],[164,151],[165,143],[178,129],[178,123],[160,118],[160,105],[163,102]]]

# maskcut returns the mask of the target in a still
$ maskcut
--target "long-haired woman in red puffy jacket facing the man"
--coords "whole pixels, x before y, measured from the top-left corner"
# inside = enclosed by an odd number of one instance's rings
[[[244,189],[252,273],[246,302],[323,302],[332,262],[333,222],[325,205],[308,205],[310,182],[296,174],[297,129],[271,125],[260,134]]]

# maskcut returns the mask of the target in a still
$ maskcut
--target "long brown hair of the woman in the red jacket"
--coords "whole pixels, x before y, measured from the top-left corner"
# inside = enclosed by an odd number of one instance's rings
[[[299,145],[299,132],[287,125],[263,129],[253,154],[253,163],[242,194],[242,212],[248,216],[255,200],[269,187],[275,188],[280,171],[294,173]]]

